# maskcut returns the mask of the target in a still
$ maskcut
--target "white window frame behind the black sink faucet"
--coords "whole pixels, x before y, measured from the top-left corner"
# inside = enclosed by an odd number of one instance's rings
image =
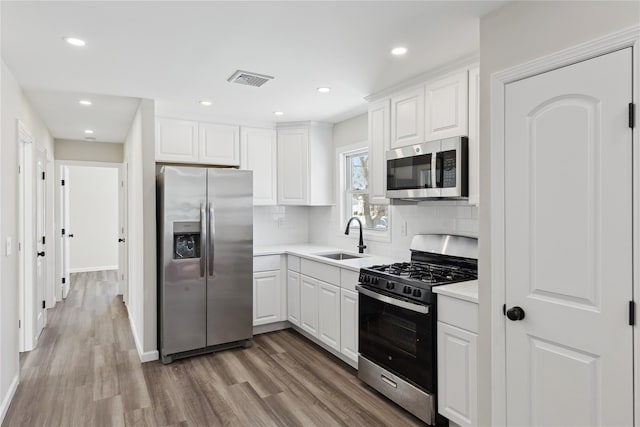
[[[351,168],[347,168],[348,158],[349,156],[353,156],[359,153],[366,152],[369,153],[369,144],[367,141],[361,141],[356,144],[351,144],[347,146],[341,146],[336,148],[336,164],[339,166],[339,182],[338,182],[338,194],[340,195],[337,199],[339,200],[338,204],[338,212],[340,215],[340,230],[339,233],[344,236],[344,230],[347,225],[347,221],[353,215],[351,215],[351,200],[353,194],[368,194],[371,197],[371,190],[369,185],[367,185],[366,190],[352,190],[351,187]],[[369,157],[370,159],[371,157]],[[369,181],[369,177],[367,177],[367,184]],[[372,228],[363,228],[362,234],[367,240],[378,241],[378,242],[391,242],[391,205],[388,205],[387,208],[387,229],[376,230]],[[359,236],[360,226],[357,222],[353,221],[349,226],[349,235],[345,236],[352,239],[357,239]]]

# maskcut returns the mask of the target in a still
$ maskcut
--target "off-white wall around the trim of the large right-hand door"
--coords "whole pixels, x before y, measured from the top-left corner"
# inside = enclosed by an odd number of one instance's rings
[[[639,2],[509,3],[480,21],[480,334],[478,416],[480,425],[491,418],[491,171],[490,76],[640,23]]]

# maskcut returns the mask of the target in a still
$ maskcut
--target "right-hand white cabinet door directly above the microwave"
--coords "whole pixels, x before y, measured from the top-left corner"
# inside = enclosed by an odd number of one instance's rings
[[[467,135],[467,71],[426,86],[425,139]]]

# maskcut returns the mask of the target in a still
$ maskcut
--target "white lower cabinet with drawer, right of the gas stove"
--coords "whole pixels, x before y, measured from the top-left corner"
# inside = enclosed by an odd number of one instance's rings
[[[438,412],[460,426],[476,426],[477,304],[438,295],[438,319]]]

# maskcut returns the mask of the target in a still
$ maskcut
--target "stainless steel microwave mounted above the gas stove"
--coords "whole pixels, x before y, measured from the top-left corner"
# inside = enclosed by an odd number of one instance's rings
[[[390,199],[469,197],[469,142],[466,136],[387,151]]]

